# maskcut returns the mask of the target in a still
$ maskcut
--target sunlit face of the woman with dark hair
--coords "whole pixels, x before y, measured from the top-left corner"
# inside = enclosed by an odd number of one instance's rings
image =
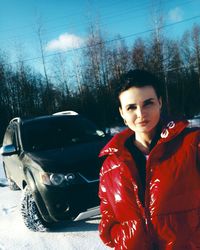
[[[152,86],[131,87],[119,99],[120,114],[130,129],[144,134],[154,131],[160,120],[162,99],[158,99]]]

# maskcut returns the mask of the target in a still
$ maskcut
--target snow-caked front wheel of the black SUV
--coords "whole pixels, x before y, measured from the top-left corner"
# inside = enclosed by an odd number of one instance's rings
[[[48,230],[49,223],[42,219],[37,205],[33,199],[33,195],[26,186],[23,191],[21,201],[21,213],[25,225],[32,231],[45,232]]]

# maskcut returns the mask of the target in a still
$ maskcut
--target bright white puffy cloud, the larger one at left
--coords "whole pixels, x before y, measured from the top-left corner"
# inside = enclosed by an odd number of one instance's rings
[[[83,39],[73,34],[64,33],[57,39],[47,43],[47,51],[67,51],[79,48],[83,43]]]

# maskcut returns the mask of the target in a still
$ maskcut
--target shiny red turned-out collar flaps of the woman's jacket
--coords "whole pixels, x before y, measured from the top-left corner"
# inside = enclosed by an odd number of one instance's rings
[[[162,132],[160,134],[160,139],[158,143],[168,142],[178,136],[186,127],[188,126],[188,121],[170,121],[166,126],[162,127]],[[112,155],[114,153],[118,154],[124,149],[124,144],[128,137],[134,134],[134,131],[127,128],[122,132],[116,134],[101,150],[99,156]]]

